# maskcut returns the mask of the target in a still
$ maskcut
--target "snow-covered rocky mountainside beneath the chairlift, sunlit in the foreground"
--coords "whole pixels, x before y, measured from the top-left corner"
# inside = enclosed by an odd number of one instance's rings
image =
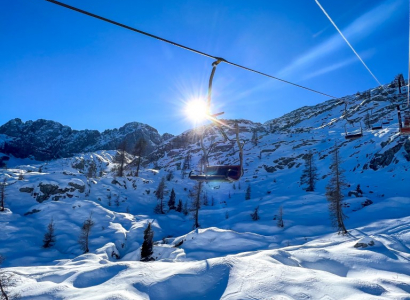
[[[224,142],[214,125],[158,137],[138,177],[132,155],[126,156],[125,176],[115,175],[117,153],[105,149],[102,138],[92,144],[99,148],[85,147],[73,156],[77,148],[67,148],[72,150],[59,154],[66,158],[48,162],[7,155],[8,168],[0,169],[8,183],[0,255],[3,270],[16,280],[10,294],[22,299],[410,299],[410,138],[398,133],[396,112],[405,99],[386,85],[264,124],[226,120],[228,137],[234,139],[238,124],[245,143],[244,176],[235,183],[204,184],[196,230],[190,212],[168,210],[167,202],[173,189],[176,200],[190,207],[195,182],[187,175],[200,168],[202,132],[206,148],[214,145],[211,164],[238,163],[235,142]],[[372,130],[379,123],[383,128]],[[345,133],[360,130],[360,124],[363,137],[346,140]],[[0,133],[7,143],[10,137],[30,141],[12,130],[23,125],[4,126]],[[345,236],[332,228],[325,197],[335,145],[349,184],[343,191]],[[309,152],[318,169],[314,192],[300,183]],[[166,213],[155,214],[162,178]],[[283,228],[277,226],[281,207]],[[257,208],[259,220],[253,220]],[[90,213],[95,223],[90,253],[82,254],[78,237]],[[51,219],[56,244],[43,249]],[[155,261],[140,262],[149,222]]]

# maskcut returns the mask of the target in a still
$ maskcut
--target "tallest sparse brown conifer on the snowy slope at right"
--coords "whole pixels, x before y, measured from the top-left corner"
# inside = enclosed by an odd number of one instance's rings
[[[332,165],[330,166],[330,180],[326,186],[326,198],[329,201],[329,213],[332,225],[337,228],[338,233],[347,234],[344,220],[347,216],[343,213],[343,193],[342,190],[347,186],[344,179],[344,170],[341,168],[341,159],[339,147],[336,144],[333,156]]]

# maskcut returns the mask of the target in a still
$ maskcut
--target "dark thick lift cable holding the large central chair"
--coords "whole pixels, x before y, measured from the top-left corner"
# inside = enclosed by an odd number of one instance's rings
[[[119,22],[116,22],[116,21],[107,19],[107,18],[105,18],[105,17],[101,17],[101,16],[99,16],[99,15],[90,13],[90,12],[88,12],[88,11],[79,9],[79,8],[77,8],[77,7],[74,7],[74,6],[71,6],[71,5],[68,5],[68,4],[65,4],[65,3],[62,3],[62,2],[56,1],[56,0],[45,0],[45,1],[50,2],[50,3],[53,3],[53,4],[57,4],[57,5],[59,5],[59,6],[62,6],[62,7],[71,9],[71,10],[74,10],[74,11],[76,11],[76,12],[79,12],[79,13],[82,13],[82,14],[85,14],[85,15],[88,15],[88,16],[93,17],[93,18],[96,18],[96,19],[99,19],[99,20],[102,20],[102,21],[105,21],[105,22],[108,22],[108,23],[117,25],[117,26],[119,26],[119,27],[123,27],[123,28],[125,28],[125,29],[128,29],[128,30],[131,30],[131,31],[134,31],[134,32],[137,32],[137,33],[146,35],[146,36],[149,36],[149,37],[151,37],[151,38],[160,40],[160,41],[162,41],[162,42],[165,42],[165,43],[168,43],[168,44],[171,44],[171,45],[174,45],[174,46],[176,46],[176,47],[180,47],[180,48],[182,48],[182,49],[185,49],[185,50],[194,52],[194,53],[196,53],[196,54],[200,54],[200,55],[203,55],[203,56],[206,56],[206,57],[209,57],[209,58],[213,58],[213,59],[216,59],[216,60],[220,60],[221,62],[224,62],[224,63],[226,63],[226,64],[228,64],[228,65],[232,65],[232,66],[235,66],[235,67],[238,67],[238,68],[244,69],[244,70],[246,70],[246,71],[253,72],[253,73],[256,73],[256,74],[265,76],[265,77],[269,77],[269,78],[272,78],[272,79],[275,79],[275,80],[278,80],[278,81],[281,81],[281,82],[284,82],[284,83],[287,83],[287,84],[296,86],[296,87],[298,87],[298,88],[302,88],[302,89],[305,89],[305,90],[308,90],[308,91],[311,91],[311,92],[314,92],[314,93],[317,93],[317,94],[320,94],[320,95],[323,95],[323,96],[326,96],[326,97],[330,97],[330,98],[333,98],[333,99],[338,99],[337,97],[334,97],[334,96],[332,96],[332,95],[328,95],[328,94],[326,94],[326,93],[322,93],[322,92],[320,92],[320,91],[317,91],[317,90],[314,90],[314,89],[305,87],[305,86],[303,86],[303,85],[300,85],[300,84],[297,84],[297,83],[293,83],[293,82],[287,81],[287,80],[285,80],[285,79],[281,79],[281,78],[278,78],[278,77],[275,77],[275,76],[272,76],[272,75],[269,75],[269,74],[266,74],[266,73],[263,73],[263,72],[260,72],[260,71],[257,71],[257,70],[254,70],[254,69],[251,69],[251,68],[248,68],[248,67],[245,67],[245,66],[242,66],[242,65],[233,63],[233,62],[230,62],[230,61],[227,61],[227,60],[225,60],[225,59],[223,59],[223,58],[220,58],[220,57],[217,57],[217,56],[214,56],[214,55],[211,55],[211,54],[208,54],[208,53],[205,53],[205,52],[202,52],[202,51],[199,51],[199,50],[196,50],[196,49],[187,47],[187,46],[184,46],[184,45],[182,45],[182,44],[179,44],[179,43],[176,43],[176,42],[173,42],[173,41],[164,39],[164,38],[159,37],[159,36],[157,36],[157,35],[154,35],[154,34],[151,34],[151,33],[148,33],[148,32],[142,31],[142,30],[139,30],[139,29],[137,29],[137,28],[134,28],[134,27],[131,27],[131,26],[128,26],[128,25],[125,25],[125,24],[122,24],[122,23],[119,23]]]

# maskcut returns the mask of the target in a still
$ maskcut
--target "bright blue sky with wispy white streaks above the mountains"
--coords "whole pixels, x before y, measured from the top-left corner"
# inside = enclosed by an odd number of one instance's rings
[[[314,0],[63,2],[333,96],[377,85]],[[320,3],[382,83],[407,78],[407,1]],[[193,127],[184,106],[206,96],[212,59],[46,1],[0,5],[0,124]],[[226,64],[213,96],[214,112],[257,122],[328,99]]]

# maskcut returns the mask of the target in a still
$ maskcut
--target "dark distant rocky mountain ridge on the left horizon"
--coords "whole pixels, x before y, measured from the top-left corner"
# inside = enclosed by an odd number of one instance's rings
[[[126,150],[132,152],[140,138],[148,141],[147,151],[151,151],[170,134],[161,136],[158,131],[146,124],[132,122],[119,129],[73,130],[58,122],[37,120],[23,122],[13,119],[0,127],[0,152],[18,158],[33,157],[36,160],[50,160],[71,157],[75,153],[97,150],[114,150],[125,141]]]

